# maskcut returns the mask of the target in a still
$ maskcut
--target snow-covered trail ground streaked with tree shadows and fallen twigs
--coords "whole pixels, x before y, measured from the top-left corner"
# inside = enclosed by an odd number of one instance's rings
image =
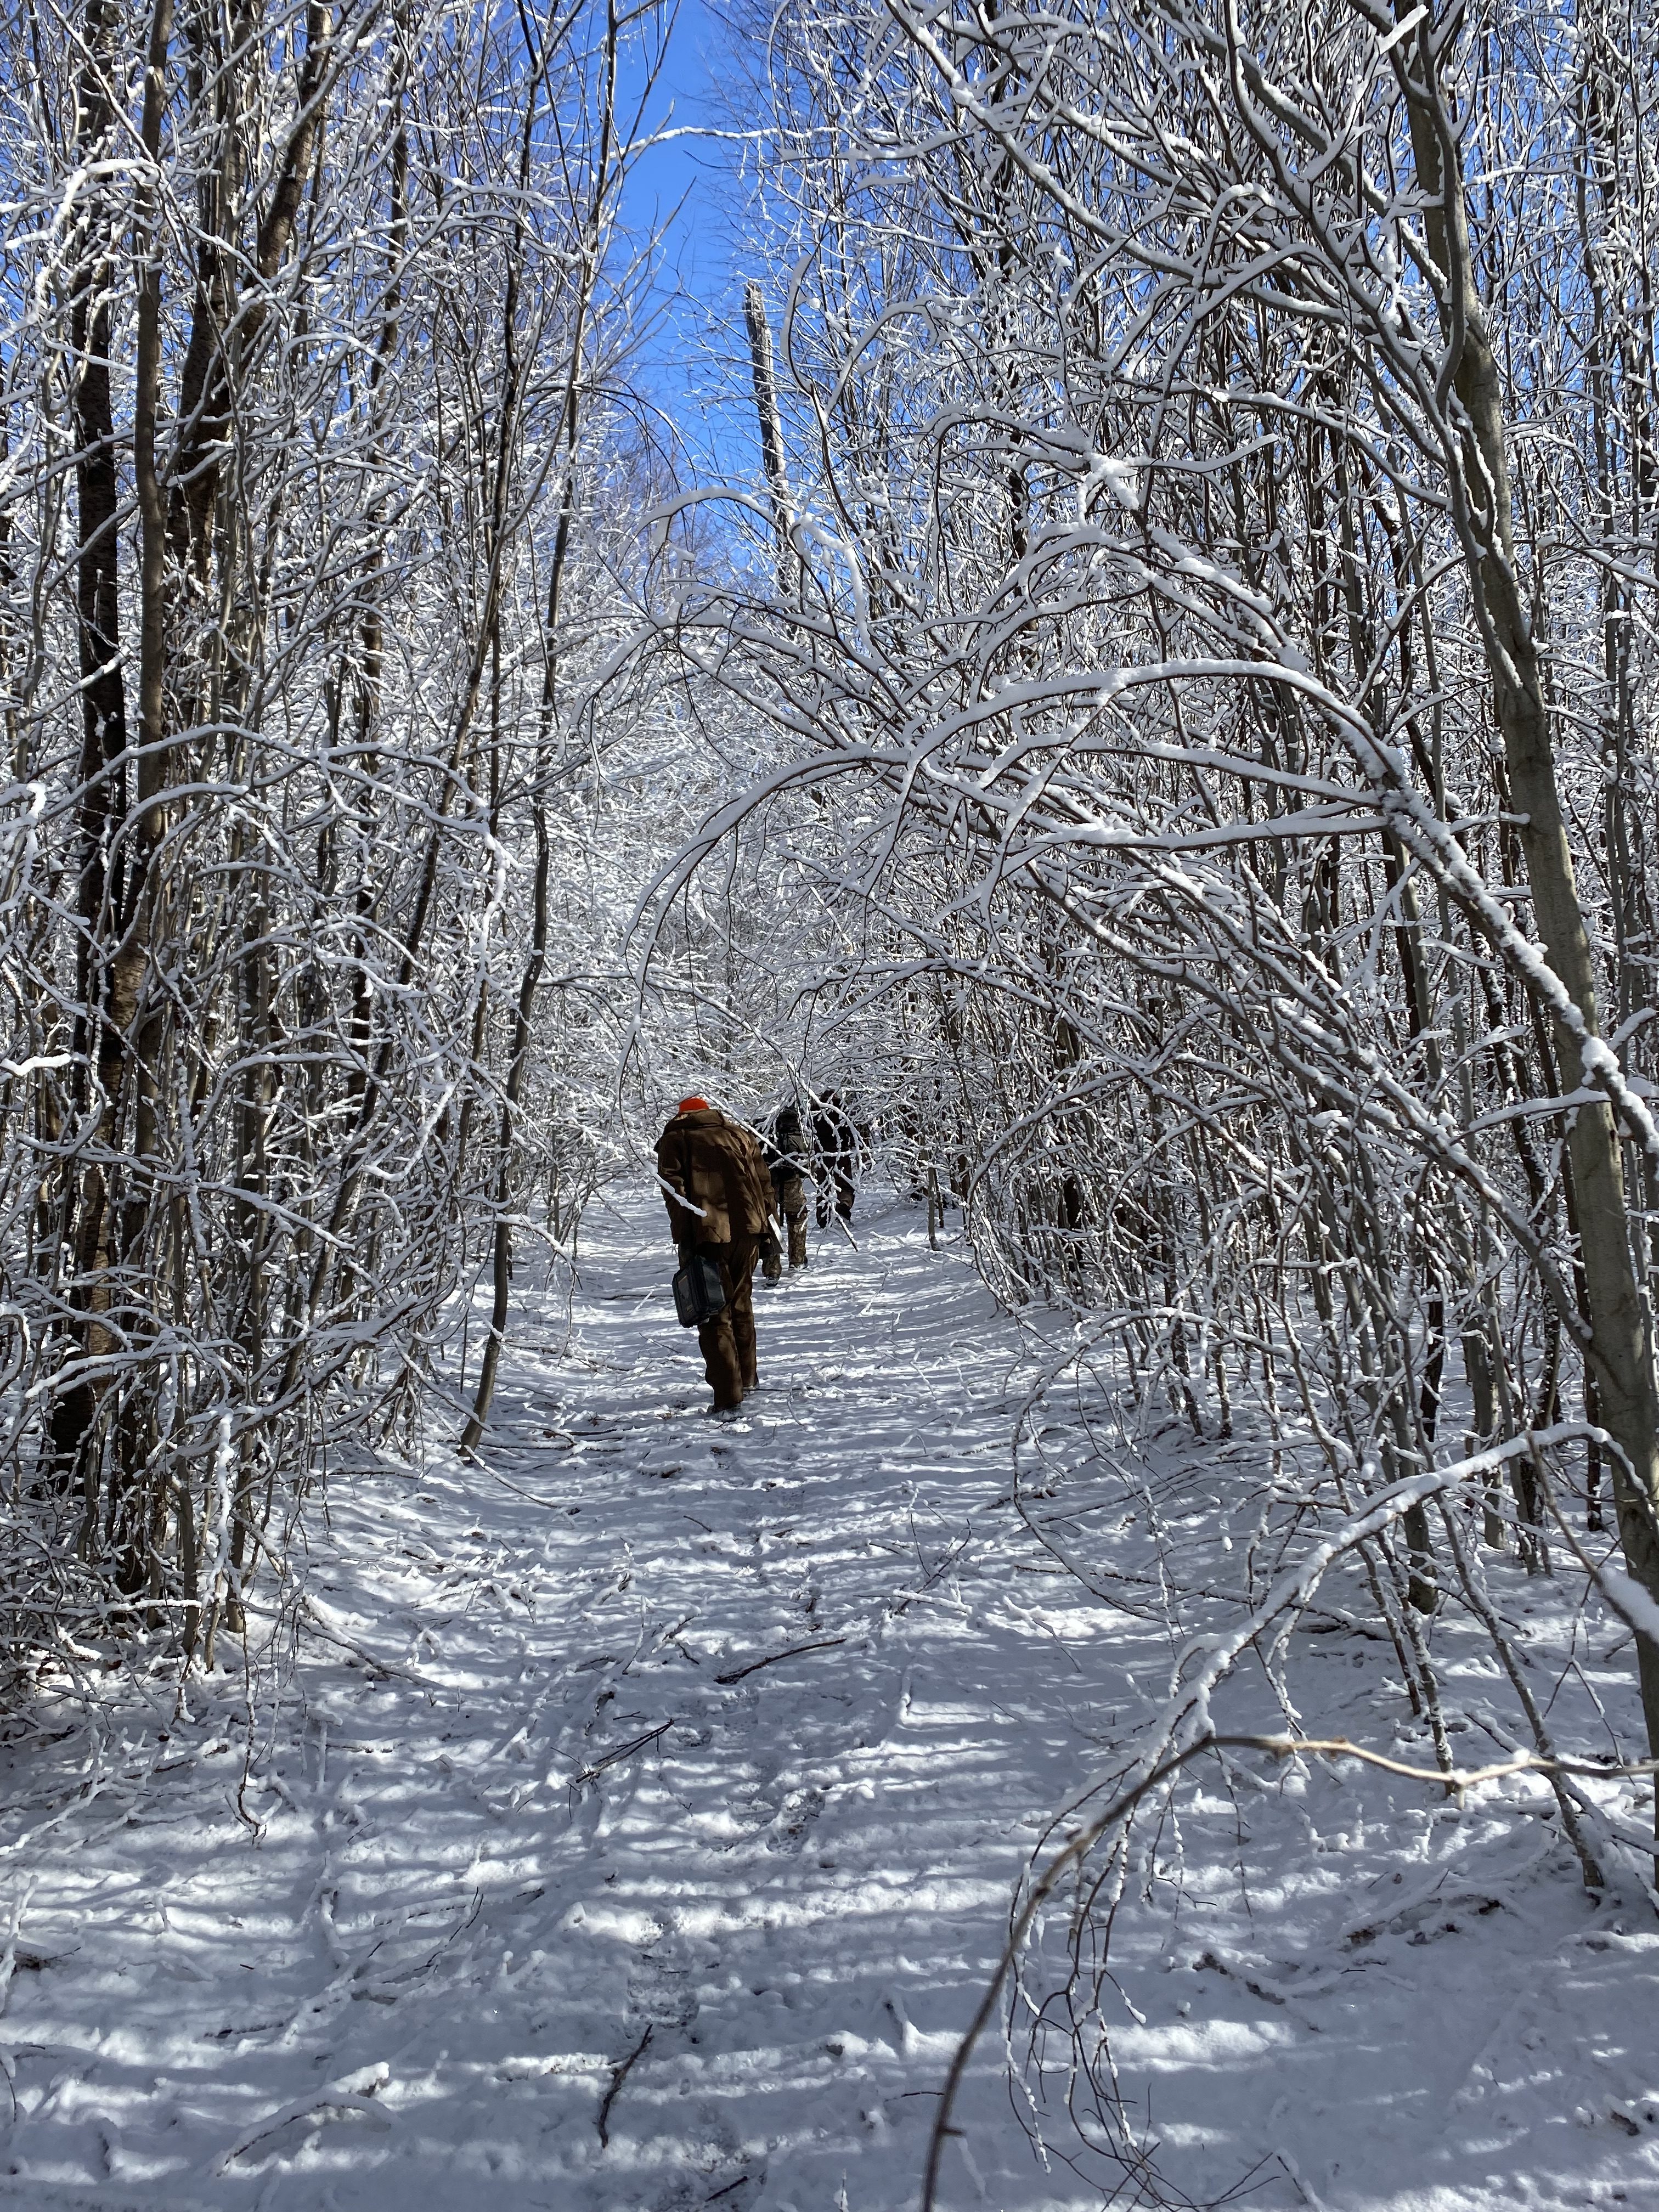
[[[1044,1535],[1091,1595],[1009,1504],[1029,1343],[911,1210],[858,1228],[761,1294],[728,1429],[655,1206],[593,1219],[489,1464],[336,1486],[252,1741],[219,1677],[11,1747],[0,2203],[916,2203],[1011,1887],[1203,1628],[1155,1601],[1157,1498],[1179,1475],[1221,1542],[1261,1447],[1055,1411]],[[1630,1728],[1617,1628],[1564,1674],[1571,1593],[1493,1595],[1564,1734],[1595,1699]],[[1387,1644],[1316,1626],[1303,1725],[1427,1756]],[[1509,1683],[1449,1617],[1436,1659],[1489,1756]],[[1228,1697],[1281,1725],[1259,1672]],[[1250,1772],[1192,1770],[1117,1909],[1110,2051],[1166,2201],[1659,2205],[1659,1931],[1586,1896],[1548,1796]],[[1099,2203],[1033,2159],[995,2039],[958,2124],[951,2208]]]

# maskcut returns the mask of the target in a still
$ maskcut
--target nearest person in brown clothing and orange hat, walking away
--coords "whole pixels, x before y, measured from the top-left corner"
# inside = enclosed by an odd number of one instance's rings
[[[681,1099],[657,1139],[668,1230],[681,1259],[708,1254],[726,1307],[697,1332],[714,1411],[732,1413],[759,1383],[754,1360],[754,1256],[776,1252],[772,1181],[759,1141],[708,1099]]]

